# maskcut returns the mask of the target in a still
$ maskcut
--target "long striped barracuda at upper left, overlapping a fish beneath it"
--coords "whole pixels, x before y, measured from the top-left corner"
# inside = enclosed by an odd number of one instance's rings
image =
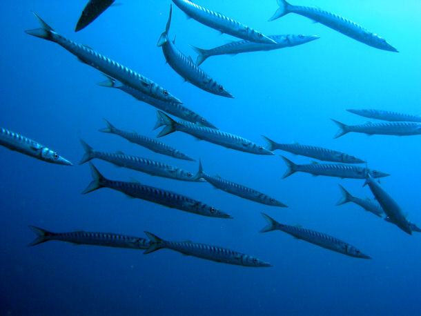
[[[157,83],[153,82],[152,80],[139,75],[139,73],[117,63],[116,61],[109,59],[108,57],[105,57],[104,55],[99,54],[98,52],[95,52],[95,50],[88,48],[88,46],[75,43],[74,41],[70,41],[70,39],[62,37],[60,34],[55,32],[55,30],[50,28],[47,23],[42,21],[41,18],[37,16],[37,14],[35,14],[35,17],[39,19],[42,28],[26,30],[26,33],[35,37],[40,37],[41,39],[54,41],[75,55],[80,61],[96,68],[101,72],[104,72],[106,75],[117,79],[118,81],[121,81],[122,83],[134,89],[150,95],[151,97],[155,97],[164,101],[182,103],[179,101],[179,99],[173,95],[170,95],[167,90],[157,85]]]

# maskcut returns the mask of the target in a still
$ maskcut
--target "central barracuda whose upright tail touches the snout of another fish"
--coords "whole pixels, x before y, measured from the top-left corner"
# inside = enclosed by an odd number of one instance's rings
[[[269,197],[262,192],[253,190],[252,188],[248,188],[246,186],[242,186],[241,184],[236,184],[234,182],[228,181],[223,179],[222,177],[216,176],[213,177],[211,175],[207,175],[202,168],[202,162],[199,161],[199,170],[195,175],[195,179],[203,178],[212,184],[215,188],[223,190],[225,192],[231,193],[233,195],[237,195],[238,197],[242,197],[244,199],[249,199],[251,201],[255,201],[257,203],[262,203],[270,206],[280,206],[283,208],[287,208],[285,204],[273,197]]]

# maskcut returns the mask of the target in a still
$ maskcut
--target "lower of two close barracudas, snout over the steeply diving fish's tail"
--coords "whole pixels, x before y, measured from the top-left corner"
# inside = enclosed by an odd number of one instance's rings
[[[288,167],[282,179],[289,177],[294,172],[306,172],[311,173],[311,175],[315,176],[325,175],[327,177],[340,177],[351,179],[365,179],[367,173],[374,178],[389,176],[389,174],[384,172],[346,164],[319,164],[317,162],[314,162],[313,164],[298,165],[294,164],[293,161],[286,159],[284,156],[281,157],[282,159],[284,159],[285,164]]]

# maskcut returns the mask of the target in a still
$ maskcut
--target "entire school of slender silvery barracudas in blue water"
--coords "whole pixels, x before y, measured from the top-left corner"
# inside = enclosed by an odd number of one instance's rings
[[[302,45],[304,43],[315,41],[315,39],[319,39],[317,35],[265,35],[243,23],[239,23],[238,21],[235,21],[230,17],[226,17],[223,14],[199,6],[192,1],[173,0],[173,3],[185,14],[187,14],[188,17],[195,19],[197,22],[240,39],[239,41],[234,41],[232,43],[210,49],[192,46],[193,50],[195,50],[198,54],[197,61],[195,63],[191,57],[185,55],[184,52],[180,51],[175,46],[175,41],[170,40],[170,22],[171,15],[173,13],[172,5],[170,5],[166,28],[157,41],[157,46],[161,46],[168,65],[173,68],[178,75],[197,88],[222,97],[233,98],[233,95],[231,95],[226,88],[219,84],[219,79],[218,82],[215,81],[213,77],[210,77],[210,75],[204,72],[204,70],[199,68],[199,65],[201,65],[208,57],[216,55],[235,55],[245,52],[277,50],[280,48]],[[86,28],[86,26],[99,17],[104,10],[112,5],[115,5],[114,0],[88,1],[88,4],[86,5],[86,8],[84,8],[77,23],[75,32]],[[349,19],[345,19],[344,17],[340,17],[337,14],[326,12],[319,8],[293,6],[285,0],[277,0],[277,5],[279,8],[277,8],[275,14],[273,14],[273,17],[271,17],[269,21],[278,19],[288,13],[300,14],[351,37],[352,39],[372,46],[373,48],[398,52],[398,50],[393,48],[391,44],[387,43],[386,40],[382,39],[382,37],[378,36],[378,34],[369,32],[357,23],[354,23]],[[181,100],[170,94],[166,88],[159,86],[158,83],[155,83],[151,79],[135,72],[135,70],[131,70],[130,68],[121,65],[121,63],[118,63],[117,61],[109,59],[105,55],[99,54],[88,46],[75,43],[74,41],[61,36],[52,27],[48,26],[48,24],[44,22],[43,19],[41,19],[41,17],[39,17],[35,12],[34,14],[41,24],[41,28],[26,30],[26,33],[34,37],[58,43],[59,46],[68,50],[83,63],[99,70],[106,76],[106,81],[98,83],[100,86],[117,88],[129,95],[132,95],[139,101],[143,101],[157,108],[157,123],[154,129],[164,126],[157,137],[163,137],[171,132],[180,131],[219,146],[232,148],[233,150],[239,150],[242,152],[253,153],[256,155],[275,155],[273,153],[274,150],[284,150],[291,152],[294,155],[302,155],[304,157],[320,161],[329,161],[329,163],[323,164],[313,161],[311,164],[298,165],[282,156],[287,166],[284,177],[288,177],[294,172],[307,172],[314,176],[324,175],[329,177],[365,179],[365,184],[367,184],[373,192],[373,196],[376,201],[354,197],[346,190],[346,188],[344,188],[344,186],[339,185],[342,192],[342,198],[337,202],[337,205],[339,206],[352,202],[364,208],[364,210],[373,213],[373,215],[398,226],[398,228],[404,230],[405,233],[411,235],[413,231],[421,231],[418,226],[408,221],[398,203],[393,199],[393,197],[391,197],[391,195],[389,195],[389,193],[386,192],[386,190],[384,190],[384,188],[382,188],[382,186],[380,186],[377,181],[375,181],[375,178],[386,177],[389,176],[389,174],[371,170],[367,167],[355,166],[355,164],[366,164],[366,161],[363,159],[355,157],[351,155],[351,153],[339,152],[337,150],[322,148],[319,146],[301,145],[297,143],[280,144],[266,136],[264,136],[264,139],[266,139],[268,145],[264,148],[251,140],[228,132],[223,132],[203,117],[197,115],[195,112],[182,105]],[[194,88],[192,87],[192,89]],[[360,132],[367,135],[399,136],[421,134],[421,124],[419,123],[421,122],[421,117],[417,117],[415,115],[375,109],[352,109],[348,111],[363,117],[381,119],[388,122],[348,126],[339,121],[333,120],[335,124],[340,127],[340,130],[337,132],[335,138],[348,132]],[[175,121],[164,112],[174,115],[182,120]],[[118,135],[119,137],[123,137],[134,144],[138,144],[148,148],[149,150],[158,152],[161,155],[195,161],[195,159],[190,158],[188,155],[184,154],[184,152],[177,150],[176,148],[172,148],[157,139],[151,139],[149,137],[139,135],[136,132],[119,130],[118,128],[115,128],[115,126],[112,126],[112,124],[108,121],[106,121],[106,128],[101,128],[99,131]],[[171,166],[170,164],[148,159],[146,157],[135,157],[133,155],[126,155],[123,152],[100,152],[94,150],[86,144],[85,141],[81,139],[80,141],[85,153],[79,164],[84,164],[92,159],[102,159],[110,162],[111,164],[115,164],[116,166],[146,172],[150,175],[156,175],[159,177],[167,177],[179,181],[206,181],[215,188],[231,193],[231,195],[237,195],[237,197],[242,197],[244,199],[268,206],[288,207],[281,201],[278,201],[277,199],[260,191],[226,180],[219,176],[206,174],[202,168],[201,161],[199,161],[198,171],[194,173],[178,168],[177,166]],[[0,144],[10,150],[15,150],[46,162],[72,165],[70,161],[59,156],[55,151],[39,144],[37,141],[19,135],[16,132],[11,132],[6,128],[0,129]],[[186,197],[185,195],[181,195],[177,192],[165,190],[164,188],[155,188],[146,184],[140,184],[135,180],[127,182],[107,179],[101,175],[91,162],[89,162],[89,165],[92,182],[82,192],[83,194],[92,192],[99,188],[111,188],[112,190],[123,192],[125,195],[133,198],[144,199],[155,204],[168,206],[168,208],[184,210],[185,212],[194,213],[196,215],[219,217],[223,219],[233,218],[231,215],[224,213],[222,210],[218,210],[217,208],[202,201],[197,201],[196,199]],[[317,246],[333,250],[337,253],[362,259],[371,259],[369,255],[365,255],[358,250],[358,248],[355,248],[355,246],[347,244],[340,239],[331,237],[325,233],[319,233],[315,230],[309,230],[299,226],[280,224],[268,215],[264,213],[262,213],[262,215],[264,219],[266,219],[268,225],[262,228],[261,233],[271,230],[282,230],[284,233],[293,235],[293,237],[297,239],[302,239]],[[130,237],[116,233],[92,233],[85,231],[52,233],[48,230],[37,228],[35,226],[30,226],[30,228],[35,232],[37,238],[32,241],[29,246],[35,246],[43,243],[44,241],[58,240],[67,241],[73,244],[144,249],[145,254],[152,253],[160,248],[168,248],[179,253],[183,253],[184,255],[191,255],[225,264],[253,267],[271,266],[271,264],[266,261],[262,261],[244,253],[239,253],[235,250],[229,250],[219,246],[210,246],[207,244],[197,244],[191,241],[166,241],[156,235],[153,235],[152,233],[148,233],[147,231],[145,231],[146,237],[148,237],[146,239],[143,237]]]

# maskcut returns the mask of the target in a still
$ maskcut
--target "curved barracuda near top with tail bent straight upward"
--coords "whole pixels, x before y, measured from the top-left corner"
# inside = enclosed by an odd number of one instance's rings
[[[230,92],[226,91],[222,85],[217,83],[212,77],[210,77],[201,68],[197,67],[191,58],[186,57],[176,46],[175,41],[168,39],[168,31],[171,22],[171,8],[170,16],[166,24],[166,30],[159,37],[157,46],[162,47],[165,59],[167,63],[184,78],[185,81],[192,83],[193,85],[213,93],[214,95],[221,95],[222,97],[233,98]]]

